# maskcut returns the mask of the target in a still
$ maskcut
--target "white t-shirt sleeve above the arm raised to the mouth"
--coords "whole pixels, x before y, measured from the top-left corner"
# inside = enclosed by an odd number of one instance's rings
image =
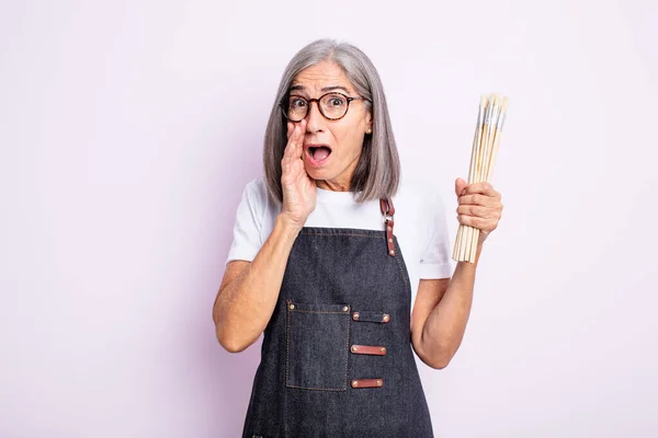
[[[242,192],[236,212],[234,240],[225,265],[237,260],[251,262],[262,246],[260,231],[266,203],[266,192],[263,193],[261,187],[263,184],[262,181],[253,180]]]

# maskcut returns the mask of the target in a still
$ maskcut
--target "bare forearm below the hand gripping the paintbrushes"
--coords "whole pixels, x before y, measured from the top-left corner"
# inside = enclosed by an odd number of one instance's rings
[[[422,350],[435,368],[447,366],[466,330],[475,274],[481,252],[478,245],[475,263],[458,262],[441,301],[430,312],[422,330]]]

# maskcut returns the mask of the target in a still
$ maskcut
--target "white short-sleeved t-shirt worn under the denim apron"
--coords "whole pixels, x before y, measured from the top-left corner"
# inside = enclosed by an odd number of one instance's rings
[[[443,200],[423,184],[402,183],[392,198],[394,234],[398,240],[411,283],[411,309],[421,278],[449,278],[453,265]],[[272,200],[262,177],[252,180],[242,193],[226,264],[251,262],[268,240],[281,205]],[[358,204],[352,192],[317,188],[316,208],[306,227],[384,230],[379,200]]]

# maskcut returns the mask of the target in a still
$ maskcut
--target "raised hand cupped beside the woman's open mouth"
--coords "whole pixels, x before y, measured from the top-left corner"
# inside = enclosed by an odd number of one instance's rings
[[[281,186],[283,189],[283,207],[281,215],[298,229],[304,227],[306,218],[315,209],[316,184],[304,166],[304,135],[306,119],[299,123],[287,123],[287,145],[281,160]]]

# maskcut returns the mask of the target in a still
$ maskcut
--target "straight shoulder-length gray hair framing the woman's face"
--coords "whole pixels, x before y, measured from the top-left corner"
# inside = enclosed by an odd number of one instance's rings
[[[283,72],[263,146],[265,183],[270,195],[283,203],[281,160],[287,145],[287,128],[279,103],[287,95],[293,80],[302,70],[325,60],[340,66],[359,95],[370,100],[363,102],[372,111],[373,132],[364,137],[350,191],[358,193],[359,203],[392,197],[397,192],[401,171],[382,80],[363,51],[351,44],[332,39],[318,39],[302,48]]]

